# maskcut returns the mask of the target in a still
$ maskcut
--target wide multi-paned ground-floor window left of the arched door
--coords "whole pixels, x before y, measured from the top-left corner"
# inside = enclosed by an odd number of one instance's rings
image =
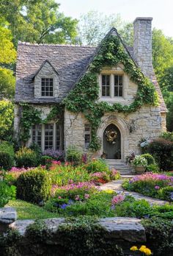
[[[36,124],[32,126],[32,142],[45,149],[62,149],[61,124]]]

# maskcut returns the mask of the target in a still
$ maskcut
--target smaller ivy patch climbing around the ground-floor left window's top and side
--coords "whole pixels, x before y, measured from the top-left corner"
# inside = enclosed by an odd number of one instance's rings
[[[29,131],[34,124],[46,124],[48,121],[58,121],[62,114],[63,108],[60,105],[54,105],[51,108],[50,113],[45,119],[41,118],[41,110],[33,107],[30,104],[22,103],[22,116],[21,116],[21,136],[20,139],[23,142],[29,140]]]

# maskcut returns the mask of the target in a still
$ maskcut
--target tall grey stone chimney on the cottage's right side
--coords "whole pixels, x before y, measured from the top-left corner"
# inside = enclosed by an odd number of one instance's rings
[[[133,22],[133,55],[141,71],[152,77],[152,18],[138,17]]]

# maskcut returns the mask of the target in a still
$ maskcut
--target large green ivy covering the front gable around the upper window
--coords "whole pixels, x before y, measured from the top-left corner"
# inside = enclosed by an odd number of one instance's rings
[[[130,80],[138,85],[136,98],[130,105],[119,103],[108,104],[107,102],[98,102],[99,85],[97,75],[103,67],[113,67],[122,63],[124,71],[130,77]],[[89,148],[92,151],[100,149],[100,141],[97,137],[97,129],[104,113],[132,113],[138,110],[143,104],[157,105],[158,95],[154,85],[147,77],[144,77],[141,70],[136,66],[133,60],[125,52],[120,39],[109,35],[101,43],[100,49],[89,65],[87,72],[76,84],[76,87],[70,91],[64,100],[67,110],[73,113],[84,113],[85,118],[91,124],[91,143]]]

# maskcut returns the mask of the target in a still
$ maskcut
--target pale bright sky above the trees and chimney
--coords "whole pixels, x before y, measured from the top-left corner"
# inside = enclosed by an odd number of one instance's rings
[[[56,0],[59,11],[79,18],[89,10],[121,15],[122,21],[133,22],[136,17],[152,17],[152,27],[163,30],[173,38],[173,0]]]

